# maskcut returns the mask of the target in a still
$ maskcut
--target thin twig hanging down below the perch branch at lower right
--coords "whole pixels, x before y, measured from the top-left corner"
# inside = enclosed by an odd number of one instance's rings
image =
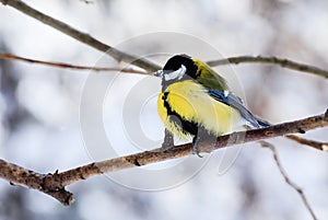
[[[263,140],[261,140],[259,142],[263,148],[268,148],[268,149],[271,150],[271,152],[273,154],[273,160],[274,160],[281,175],[283,176],[285,183],[289,184],[292,188],[294,188],[296,190],[296,193],[301,196],[303,204],[305,205],[305,207],[309,211],[312,218],[314,220],[317,220],[317,217],[316,217],[315,212],[313,211],[313,209],[312,209],[312,207],[311,207],[303,189],[300,186],[297,186],[294,182],[292,182],[292,180],[288,176],[286,172],[283,170],[282,164],[281,164],[281,162],[278,158],[278,153],[277,153],[277,150],[276,150],[274,146],[267,142],[267,141],[263,141]]]

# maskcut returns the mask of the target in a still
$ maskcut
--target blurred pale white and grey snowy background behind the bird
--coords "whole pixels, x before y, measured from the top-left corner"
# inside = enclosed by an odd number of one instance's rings
[[[128,48],[136,55],[191,53],[204,60],[263,55],[328,69],[326,1],[25,2],[108,45]],[[0,18],[1,53],[75,65],[117,66],[113,59],[104,58],[102,53],[10,7],[0,5]],[[180,42],[169,42],[165,37],[154,37],[142,45],[138,40],[137,45],[133,40],[129,42],[131,37],[156,32],[196,37],[211,45],[222,57],[211,57],[213,53],[198,54],[200,48],[192,47],[191,43],[187,51],[180,51]],[[129,42],[129,47],[126,42]],[[139,54],[141,51],[143,54]],[[153,60],[164,65],[166,58],[156,56]],[[328,82],[324,78],[255,63],[232,66],[229,71],[234,72],[250,111],[271,123],[320,114],[328,106]],[[106,148],[106,144],[94,144],[90,149],[84,137],[85,129],[81,128],[81,102],[83,106],[94,105],[92,94],[85,96],[85,91],[97,91],[95,84],[89,88],[85,84],[95,74],[0,60],[0,158],[42,173],[57,169],[63,171],[108,158],[102,149],[97,149]],[[114,76],[107,72],[95,77],[104,77],[106,82],[115,85],[104,93],[99,106],[104,106],[105,111],[99,118],[103,118],[112,148],[121,148],[118,154],[137,152],[142,149],[127,136],[127,128],[121,126],[121,121],[125,120],[125,111],[133,109],[138,103],[131,103],[127,108],[129,103],[125,101],[138,83],[152,82],[151,88],[156,91],[160,82],[157,79],[144,81],[144,77],[136,74]],[[144,103],[138,121],[142,134],[160,144],[164,128],[156,116],[153,94]],[[92,113],[85,113],[90,120],[93,119]],[[94,131],[92,126],[86,126],[87,130]],[[312,130],[304,137],[327,141],[327,128]],[[283,138],[270,142],[277,147],[291,180],[304,189],[317,217],[327,219],[327,153]],[[173,182],[168,180],[171,174],[165,175],[165,180],[156,178],[154,173],[164,171],[161,164],[150,167],[151,173],[147,175],[139,175],[142,172],[138,170],[129,171],[124,176],[124,184],[120,183],[122,177],[113,176],[112,181],[108,176],[97,176],[79,182],[68,187],[75,198],[70,207],[63,207],[36,190],[11,186],[0,180],[0,219],[311,219],[300,195],[280,175],[271,152],[258,143],[243,144],[243,148],[224,173],[219,173],[222,150],[204,159],[206,163],[196,157],[188,159],[178,174],[172,174]],[[175,164],[162,165],[174,167]],[[178,178],[175,183],[178,175],[187,178]],[[155,178],[157,183],[169,183],[148,190],[147,183]]]

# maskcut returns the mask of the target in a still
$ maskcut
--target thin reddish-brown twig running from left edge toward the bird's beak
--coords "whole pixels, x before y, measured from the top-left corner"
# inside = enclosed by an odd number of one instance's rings
[[[45,65],[45,66],[56,67],[56,68],[75,69],[75,70],[117,71],[117,72],[148,74],[148,72],[145,72],[145,71],[140,71],[140,70],[130,69],[130,68],[86,67],[86,66],[70,65],[70,63],[65,63],[65,62],[51,62],[51,61],[31,59],[31,58],[20,57],[20,56],[15,56],[15,55],[11,55],[11,54],[0,54],[0,59],[25,61],[25,62],[30,62],[30,63]]]

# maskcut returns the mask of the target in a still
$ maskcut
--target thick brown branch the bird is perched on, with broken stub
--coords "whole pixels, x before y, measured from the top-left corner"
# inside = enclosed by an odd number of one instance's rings
[[[234,144],[263,140],[295,132],[304,134],[307,130],[327,126],[328,109],[323,115],[316,115],[301,120],[220,136],[218,137],[216,142],[200,141],[198,148],[199,152],[209,153],[213,150]],[[323,150],[327,151],[325,148]],[[66,192],[65,187],[67,185],[95,175],[101,175],[103,173],[116,172],[129,167],[138,167],[169,159],[183,158],[190,154],[192,154],[191,144],[186,143],[172,147],[167,150],[162,150],[160,148],[152,151],[144,151],[106,161],[95,162],[61,173],[56,171],[54,174],[47,175],[38,174],[0,160],[0,177],[13,184],[34,188],[48,194],[63,205],[70,205],[72,201],[72,195],[69,192]]]

